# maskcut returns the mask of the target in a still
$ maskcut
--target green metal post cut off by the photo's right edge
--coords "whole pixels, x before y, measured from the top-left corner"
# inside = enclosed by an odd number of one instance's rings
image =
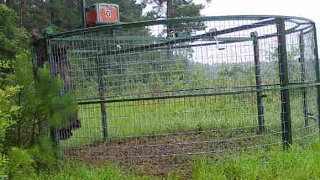
[[[316,25],[313,23],[313,29],[314,29],[314,56],[315,56],[315,71],[316,71],[316,82],[320,82],[320,72],[319,72],[319,53],[318,53],[318,38],[317,38],[317,28]],[[318,113],[318,124],[319,124],[319,132],[320,132],[320,86],[317,86],[317,113]]]

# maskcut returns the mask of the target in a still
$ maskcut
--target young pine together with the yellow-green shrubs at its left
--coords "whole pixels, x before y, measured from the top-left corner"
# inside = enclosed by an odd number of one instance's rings
[[[28,54],[17,56],[14,72],[8,76],[13,87],[0,91],[1,155],[9,158],[1,166],[10,178],[34,179],[36,169],[57,161],[50,127],[69,123],[77,106],[71,94],[59,94],[63,81],[51,78],[47,66],[33,76]]]

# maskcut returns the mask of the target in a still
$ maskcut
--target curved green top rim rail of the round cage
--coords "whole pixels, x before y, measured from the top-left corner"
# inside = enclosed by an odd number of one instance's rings
[[[48,38],[58,38],[58,37],[70,37],[79,35],[81,33],[92,33],[101,30],[110,30],[116,28],[130,28],[130,27],[142,27],[142,26],[152,26],[168,23],[181,23],[181,22],[197,22],[197,21],[235,21],[235,20],[257,20],[262,21],[266,19],[276,19],[284,18],[290,22],[302,25],[310,24],[315,25],[314,21],[308,18],[297,17],[297,16],[280,16],[280,15],[230,15],[230,16],[200,16],[200,17],[185,17],[185,18],[171,18],[171,19],[161,19],[161,20],[149,20],[149,21],[137,21],[128,23],[116,23],[110,25],[102,25],[90,28],[78,29],[66,33],[50,35]],[[304,22],[299,22],[304,21]],[[251,28],[248,28],[251,29]],[[246,30],[246,29],[242,29]]]

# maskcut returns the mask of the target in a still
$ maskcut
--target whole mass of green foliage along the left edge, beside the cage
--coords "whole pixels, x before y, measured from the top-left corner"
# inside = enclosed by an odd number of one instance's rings
[[[77,109],[71,94],[60,96],[61,79],[47,66],[34,77],[28,34],[17,14],[0,5],[0,63],[11,74],[0,80],[0,176],[34,179],[35,169],[56,163],[50,127],[66,125]]]

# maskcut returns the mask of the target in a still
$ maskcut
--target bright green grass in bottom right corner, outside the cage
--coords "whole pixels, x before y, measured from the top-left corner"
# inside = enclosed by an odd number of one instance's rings
[[[310,148],[293,146],[288,152],[280,149],[252,151],[234,155],[228,161],[215,162],[200,157],[193,166],[194,179],[319,179],[319,142]]]

